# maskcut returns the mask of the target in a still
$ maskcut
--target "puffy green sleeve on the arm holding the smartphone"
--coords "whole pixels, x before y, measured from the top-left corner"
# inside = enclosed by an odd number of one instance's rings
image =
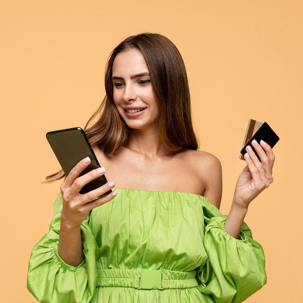
[[[60,232],[61,195],[57,197],[55,217],[49,232],[33,248],[27,285],[34,297],[42,303],[90,302],[97,284],[98,245],[91,227],[90,216],[81,225],[85,259],[78,266],[66,264],[58,255]]]

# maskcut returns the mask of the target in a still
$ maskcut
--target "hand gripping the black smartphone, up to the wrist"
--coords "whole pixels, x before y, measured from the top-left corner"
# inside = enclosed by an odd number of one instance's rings
[[[117,192],[114,191],[104,197],[100,197],[113,188],[115,182],[108,182],[86,194],[79,193],[85,184],[105,173],[105,168],[100,167],[91,170],[83,176],[79,176],[90,163],[91,159],[89,157],[77,163],[60,187],[63,199],[61,221],[64,220],[64,223],[69,227],[79,227],[92,209],[109,202],[117,195]]]

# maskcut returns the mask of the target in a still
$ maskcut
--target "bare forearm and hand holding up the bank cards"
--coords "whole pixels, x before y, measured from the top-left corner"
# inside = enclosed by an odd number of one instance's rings
[[[250,202],[273,182],[274,155],[272,148],[264,141],[258,144],[254,140],[252,144],[261,162],[248,146],[244,155],[247,166],[244,167],[238,178],[230,212],[224,225],[227,233],[234,238],[239,237]]]

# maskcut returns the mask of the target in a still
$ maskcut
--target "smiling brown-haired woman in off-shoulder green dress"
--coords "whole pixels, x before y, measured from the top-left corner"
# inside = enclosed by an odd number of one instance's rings
[[[89,158],[66,177],[50,231],[30,258],[29,290],[40,302],[244,301],[266,283],[262,248],[243,219],[273,181],[270,146],[253,142],[261,162],[246,149],[223,216],[221,165],[197,151],[175,45],[159,34],[127,38],[107,62],[105,85],[86,133],[110,181],[79,194],[105,174],[102,167],[79,177]]]

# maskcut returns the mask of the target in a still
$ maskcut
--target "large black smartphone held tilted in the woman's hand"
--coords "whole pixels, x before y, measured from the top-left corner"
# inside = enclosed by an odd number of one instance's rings
[[[80,174],[86,174],[92,169],[100,167],[98,160],[91,148],[91,144],[85,136],[84,130],[80,127],[67,128],[58,131],[48,132],[46,139],[55,153],[64,174],[67,176],[76,164],[86,157],[90,157],[91,163]],[[100,176],[84,185],[80,194],[87,193],[107,183],[106,177]],[[110,193],[109,190],[108,193]]]

